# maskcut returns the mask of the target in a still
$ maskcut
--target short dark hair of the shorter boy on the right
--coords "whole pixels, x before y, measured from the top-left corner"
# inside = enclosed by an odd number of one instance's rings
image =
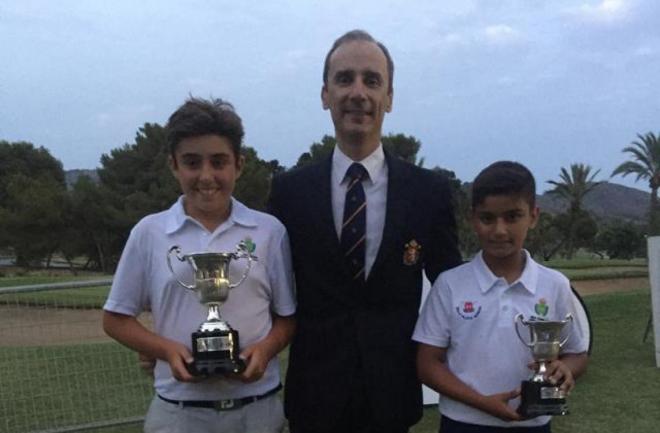
[[[532,172],[519,162],[497,161],[481,170],[472,184],[472,209],[489,196],[517,195],[530,208],[536,206],[536,182]]]

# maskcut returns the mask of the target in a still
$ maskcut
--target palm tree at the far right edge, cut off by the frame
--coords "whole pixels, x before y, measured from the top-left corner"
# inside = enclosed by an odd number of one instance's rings
[[[630,146],[624,147],[623,152],[631,155],[631,161],[619,165],[612,172],[612,176],[620,174],[626,176],[635,174],[637,178],[646,179],[651,188],[651,203],[649,207],[649,234],[659,234],[658,224],[658,187],[660,187],[660,135],[648,132],[646,135],[637,134],[639,141],[633,141]]]

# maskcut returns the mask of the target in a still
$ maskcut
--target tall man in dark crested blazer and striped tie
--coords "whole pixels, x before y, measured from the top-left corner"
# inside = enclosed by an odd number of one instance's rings
[[[460,254],[446,179],[383,150],[393,73],[368,33],[337,39],[321,90],[337,146],[273,180],[298,298],[285,388],[292,433],[401,433],[422,415],[411,341],[422,271],[434,281]]]

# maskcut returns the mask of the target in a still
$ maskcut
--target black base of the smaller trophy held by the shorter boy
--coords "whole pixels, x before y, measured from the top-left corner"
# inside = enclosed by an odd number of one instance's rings
[[[524,418],[542,415],[568,415],[564,393],[551,383],[523,381],[518,413]]]

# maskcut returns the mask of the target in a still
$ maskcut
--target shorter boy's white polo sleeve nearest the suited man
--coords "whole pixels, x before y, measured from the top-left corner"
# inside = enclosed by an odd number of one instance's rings
[[[436,347],[449,347],[451,341],[451,290],[446,273],[440,274],[431,287],[417,319],[412,339]]]

